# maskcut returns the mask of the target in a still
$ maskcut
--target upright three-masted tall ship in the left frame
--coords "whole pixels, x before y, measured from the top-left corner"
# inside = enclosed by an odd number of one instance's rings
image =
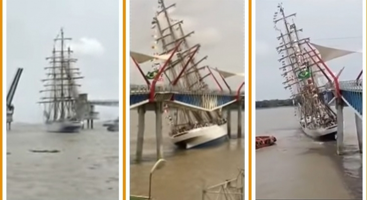
[[[64,36],[64,30],[54,39],[52,56],[47,57],[45,89],[40,103],[44,104],[46,129],[49,132],[78,132],[82,120],[78,108],[77,79],[83,78],[79,68],[74,67],[77,59],[72,58],[72,50],[66,41],[71,38]]]

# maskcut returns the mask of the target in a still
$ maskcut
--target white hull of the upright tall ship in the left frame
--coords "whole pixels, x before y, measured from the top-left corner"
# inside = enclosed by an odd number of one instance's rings
[[[79,132],[83,123],[81,121],[50,121],[46,122],[48,132]]]

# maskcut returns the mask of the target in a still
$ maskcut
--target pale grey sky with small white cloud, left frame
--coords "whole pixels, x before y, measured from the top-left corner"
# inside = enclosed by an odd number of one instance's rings
[[[46,78],[45,57],[64,27],[84,79],[80,92],[89,99],[118,99],[118,0],[8,0],[7,84],[17,67],[23,74],[14,97],[16,122],[42,122],[39,90]],[[118,107],[96,107],[101,119],[118,116]]]

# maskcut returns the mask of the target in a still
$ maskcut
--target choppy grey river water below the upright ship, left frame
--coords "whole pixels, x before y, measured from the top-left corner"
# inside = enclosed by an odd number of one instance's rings
[[[80,133],[50,133],[42,125],[12,124],[7,199],[118,199],[118,132],[94,126]]]

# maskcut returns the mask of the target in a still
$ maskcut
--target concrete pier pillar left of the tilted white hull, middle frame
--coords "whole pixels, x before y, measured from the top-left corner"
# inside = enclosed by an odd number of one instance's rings
[[[157,159],[163,158],[162,108],[163,102],[155,103],[155,138],[157,142]]]

